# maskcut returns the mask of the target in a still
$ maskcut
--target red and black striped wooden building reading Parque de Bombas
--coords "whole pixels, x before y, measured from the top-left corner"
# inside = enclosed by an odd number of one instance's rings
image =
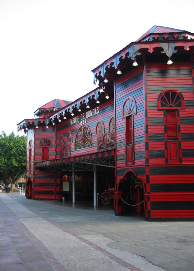
[[[96,206],[112,188],[116,215],[193,219],[193,33],[153,26],[92,72],[95,90],[18,124],[26,197]]]

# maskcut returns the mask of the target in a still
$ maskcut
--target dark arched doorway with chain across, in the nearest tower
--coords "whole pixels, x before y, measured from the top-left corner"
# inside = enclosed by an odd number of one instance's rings
[[[134,171],[128,171],[118,183],[120,213],[141,214],[144,211],[143,182]]]

